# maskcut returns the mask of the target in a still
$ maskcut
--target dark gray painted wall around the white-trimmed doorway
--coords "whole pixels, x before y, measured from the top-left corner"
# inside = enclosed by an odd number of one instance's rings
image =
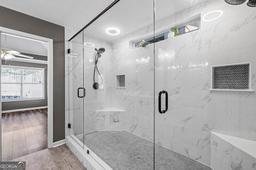
[[[0,26],[53,39],[53,142],[65,139],[64,27],[0,6]]]

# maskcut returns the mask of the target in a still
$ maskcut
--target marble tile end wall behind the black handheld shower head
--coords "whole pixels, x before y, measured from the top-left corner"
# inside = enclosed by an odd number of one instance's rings
[[[97,110],[106,109],[112,107],[112,92],[113,86],[113,73],[112,73],[112,52],[108,50],[112,49],[112,43],[92,37],[90,35],[84,35],[84,42],[93,43],[94,47],[84,46],[84,88],[86,89],[86,97],[84,98],[84,133],[88,133],[96,130],[96,121],[100,115],[96,114]],[[95,50],[105,48],[105,52],[102,53],[102,57],[98,59],[98,70],[103,78],[103,83],[98,90],[92,88],[93,84],[93,72],[95,63]],[[98,75],[95,73],[95,75]],[[95,81],[101,84],[100,76],[95,76]]]

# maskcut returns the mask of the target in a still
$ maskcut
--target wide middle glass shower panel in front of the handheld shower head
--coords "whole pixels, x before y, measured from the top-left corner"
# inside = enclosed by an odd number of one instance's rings
[[[154,168],[153,2],[119,1],[84,29],[84,145],[112,169]]]

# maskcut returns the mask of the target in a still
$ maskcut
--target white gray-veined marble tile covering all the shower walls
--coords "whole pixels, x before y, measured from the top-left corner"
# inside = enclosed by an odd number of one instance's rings
[[[251,85],[255,90],[256,34],[252,28],[256,13],[254,8],[231,6],[222,0],[190,3],[191,8],[175,15],[166,11],[170,16],[157,20],[156,29],[180,23],[196,14],[203,18],[214,10],[222,10],[223,15],[212,21],[201,20],[198,31],[144,48],[132,49],[129,44],[147,33],[153,37],[153,24],[113,42],[84,35],[86,41],[95,44],[95,47],[84,46],[84,51],[82,36],[76,39],[77,44],[73,44],[73,49],[78,57],[65,57],[68,81],[66,115],[69,114],[66,121],[76,122],[75,128],[68,129],[71,134],[82,134],[83,130],[88,133],[97,128],[124,129],[153,141],[155,121],[156,143],[206,164],[219,164],[216,170],[231,168],[230,150],[226,151],[227,146],[221,147],[221,141],[215,138],[211,144],[210,132],[256,140],[256,95],[255,92],[210,91],[211,67],[251,62]],[[94,90],[94,48],[101,47],[106,51],[98,60],[98,70],[104,80],[102,88]],[[116,51],[110,52],[110,49]],[[85,54],[84,63],[80,62],[82,53]],[[123,89],[116,88],[116,75],[119,74],[126,76],[126,87]],[[96,76],[96,81],[100,82],[100,77]],[[86,89],[84,103],[77,98],[77,88],[83,85]],[[158,113],[158,93],[161,90],[168,91],[166,114]],[[96,111],[111,107],[125,110],[125,113]],[[84,117],[81,113],[84,113]],[[232,155],[235,153],[237,151],[234,150]],[[244,158],[231,157],[233,168],[247,168]],[[218,158],[224,161],[220,164]]]

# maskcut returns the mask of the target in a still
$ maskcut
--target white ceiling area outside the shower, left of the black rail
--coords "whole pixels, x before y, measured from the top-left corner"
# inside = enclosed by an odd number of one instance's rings
[[[76,31],[114,0],[0,0],[0,6]]]

